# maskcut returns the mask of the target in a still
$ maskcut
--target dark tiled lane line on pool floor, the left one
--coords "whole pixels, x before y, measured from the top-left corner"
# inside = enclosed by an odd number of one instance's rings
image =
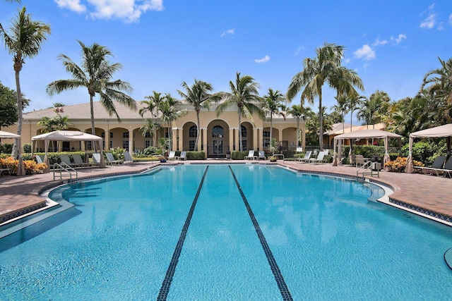
[[[174,272],[176,271],[177,262],[179,262],[179,256],[182,252],[182,246],[184,245],[184,240],[186,237],[186,233],[189,230],[191,216],[193,216],[193,212],[195,210],[196,202],[198,202],[198,197],[201,192],[201,188],[203,187],[204,179],[206,178],[206,173],[209,166],[206,167],[206,171],[204,171],[203,178],[201,179],[201,183],[199,183],[198,191],[196,192],[193,203],[191,203],[191,208],[188,216],[186,216],[186,220],[184,223],[184,228],[182,228],[181,235],[179,236],[179,240],[177,241],[176,248],[174,253],[172,254],[171,262],[169,263],[167,274],[165,275],[165,279],[163,279],[162,287],[160,288],[160,292],[158,293],[157,301],[167,300],[169,287],[171,286],[172,277],[174,276]]]

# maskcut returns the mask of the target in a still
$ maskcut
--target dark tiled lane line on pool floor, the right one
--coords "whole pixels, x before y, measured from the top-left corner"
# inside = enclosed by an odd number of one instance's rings
[[[232,171],[232,167],[229,166],[229,169],[232,173],[232,176],[234,177],[235,184],[237,185],[237,188],[239,189],[240,195],[242,195],[243,202],[245,203],[246,210],[248,210],[249,217],[251,218],[251,221],[253,222],[254,228],[256,229],[257,236],[259,240],[261,241],[261,245],[263,247],[263,252],[266,253],[266,257],[268,260],[268,264],[270,264],[271,271],[273,272],[273,276],[275,276],[276,284],[278,284],[278,288],[280,289],[280,293],[283,296],[283,300],[291,301],[292,295],[290,295],[290,290],[287,288],[287,285],[284,281],[283,274],[281,274],[280,268],[278,264],[276,263],[275,257],[273,257],[273,253],[270,250],[270,247],[268,247],[268,243],[266,241],[266,238],[263,236],[263,233],[261,231],[261,227],[259,226],[256,216],[254,216],[253,210],[251,210],[251,207],[249,206],[248,200],[246,199],[242,188],[240,188],[239,181],[235,177],[234,171]]]

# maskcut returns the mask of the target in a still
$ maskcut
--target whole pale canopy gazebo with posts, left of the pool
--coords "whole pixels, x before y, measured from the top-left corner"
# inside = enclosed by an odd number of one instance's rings
[[[34,136],[31,138],[32,151],[33,149],[35,149],[37,140],[44,140],[44,163],[47,164],[45,171],[47,173],[50,171],[50,161],[49,157],[47,156],[50,141],[93,141],[97,142],[97,149],[100,149],[100,154],[102,154],[102,137],[83,133],[78,130],[55,130],[54,132]],[[100,168],[105,168],[105,161],[103,156],[100,156]]]

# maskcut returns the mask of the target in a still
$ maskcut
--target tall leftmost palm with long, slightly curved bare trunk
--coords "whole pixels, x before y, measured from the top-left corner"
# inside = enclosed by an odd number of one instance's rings
[[[13,68],[16,75],[16,92],[18,107],[17,135],[22,133],[22,92],[20,90],[20,70],[22,70],[25,59],[32,59],[41,50],[41,45],[47,35],[50,34],[50,26],[40,21],[31,19],[31,15],[26,13],[25,6],[18,11],[16,19],[11,20],[11,27],[4,30],[0,24],[0,35],[5,42],[5,47],[9,54],[13,54]],[[20,140],[16,140],[13,145],[11,156],[16,157]]]

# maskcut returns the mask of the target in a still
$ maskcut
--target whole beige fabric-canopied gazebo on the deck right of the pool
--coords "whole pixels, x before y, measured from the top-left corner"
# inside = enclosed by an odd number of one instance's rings
[[[401,137],[400,135],[386,132],[386,130],[355,130],[350,133],[340,134],[334,137],[334,159],[333,159],[333,166],[338,166],[338,161],[340,161],[340,153],[342,152],[342,140],[349,139],[349,140],[355,140],[355,139],[383,139],[384,147],[385,147],[385,153],[383,158],[383,166],[387,161],[390,161],[391,158],[388,154],[388,145],[389,145],[389,138],[397,138],[398,139],[398,145],[400,147],[401,145]],[[339,142],[339,143],[338,143]],[[338,144],[338,152],[336,153],[336,145]],[[351,145],[351,143],[350,143]],[[352,151],[352,148],[350,147],[350,152]]]

